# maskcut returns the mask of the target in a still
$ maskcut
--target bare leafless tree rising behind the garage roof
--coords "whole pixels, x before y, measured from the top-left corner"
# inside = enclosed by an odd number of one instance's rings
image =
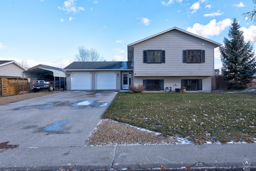
[[[104,58],[100,56],[95,49],[86,49],[84,46],[79,46],[78,54],[75,54],[74,61],[76,62],[97,62],[104,61]]]

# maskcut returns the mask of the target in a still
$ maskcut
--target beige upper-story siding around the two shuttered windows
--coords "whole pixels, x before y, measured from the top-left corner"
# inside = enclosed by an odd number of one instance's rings
[[[144,64],[143,50],[165,50],[165,63]],[[183,63],[182,50],[205,50],[205,63]],[[212,75],[214,75],[214,44],[210,42],[172,30],[134,45],[135,77]]]

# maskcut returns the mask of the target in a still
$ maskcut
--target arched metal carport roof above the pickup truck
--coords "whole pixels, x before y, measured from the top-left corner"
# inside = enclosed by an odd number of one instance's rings
[[[52,70],[48,68],[34,68],[22,72],[22,78],[38,78],[38,75],[43,74],[53,74],[54,77],[65,77],[66,73],[64,71]]]

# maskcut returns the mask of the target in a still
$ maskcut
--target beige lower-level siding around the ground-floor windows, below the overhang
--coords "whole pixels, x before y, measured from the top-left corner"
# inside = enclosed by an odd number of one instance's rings
[[[185,76],[185,77],[134,77],[134,85],[143,85],[143,80],[164,80],[164,91],[165,87],[172,87],[172,91],[175,88],[181,88],[181,80],[186,79],[202,79],[202,90],[200,91],[211,91],[211,77],[210,76]],[[177,84],[177,85],[176,85]]]

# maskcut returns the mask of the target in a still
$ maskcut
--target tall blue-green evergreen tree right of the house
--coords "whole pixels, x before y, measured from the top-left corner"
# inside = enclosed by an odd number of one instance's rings
[[[243,31],[239,30],[240,24],[233,19],[228,32],[228,38],[224,38],[224,46],[220,46],[222,74],[228,84],[236,89],[245,88],[245,85],[255,79],[256,57],[253,45],[250,41],[244,42]]]

